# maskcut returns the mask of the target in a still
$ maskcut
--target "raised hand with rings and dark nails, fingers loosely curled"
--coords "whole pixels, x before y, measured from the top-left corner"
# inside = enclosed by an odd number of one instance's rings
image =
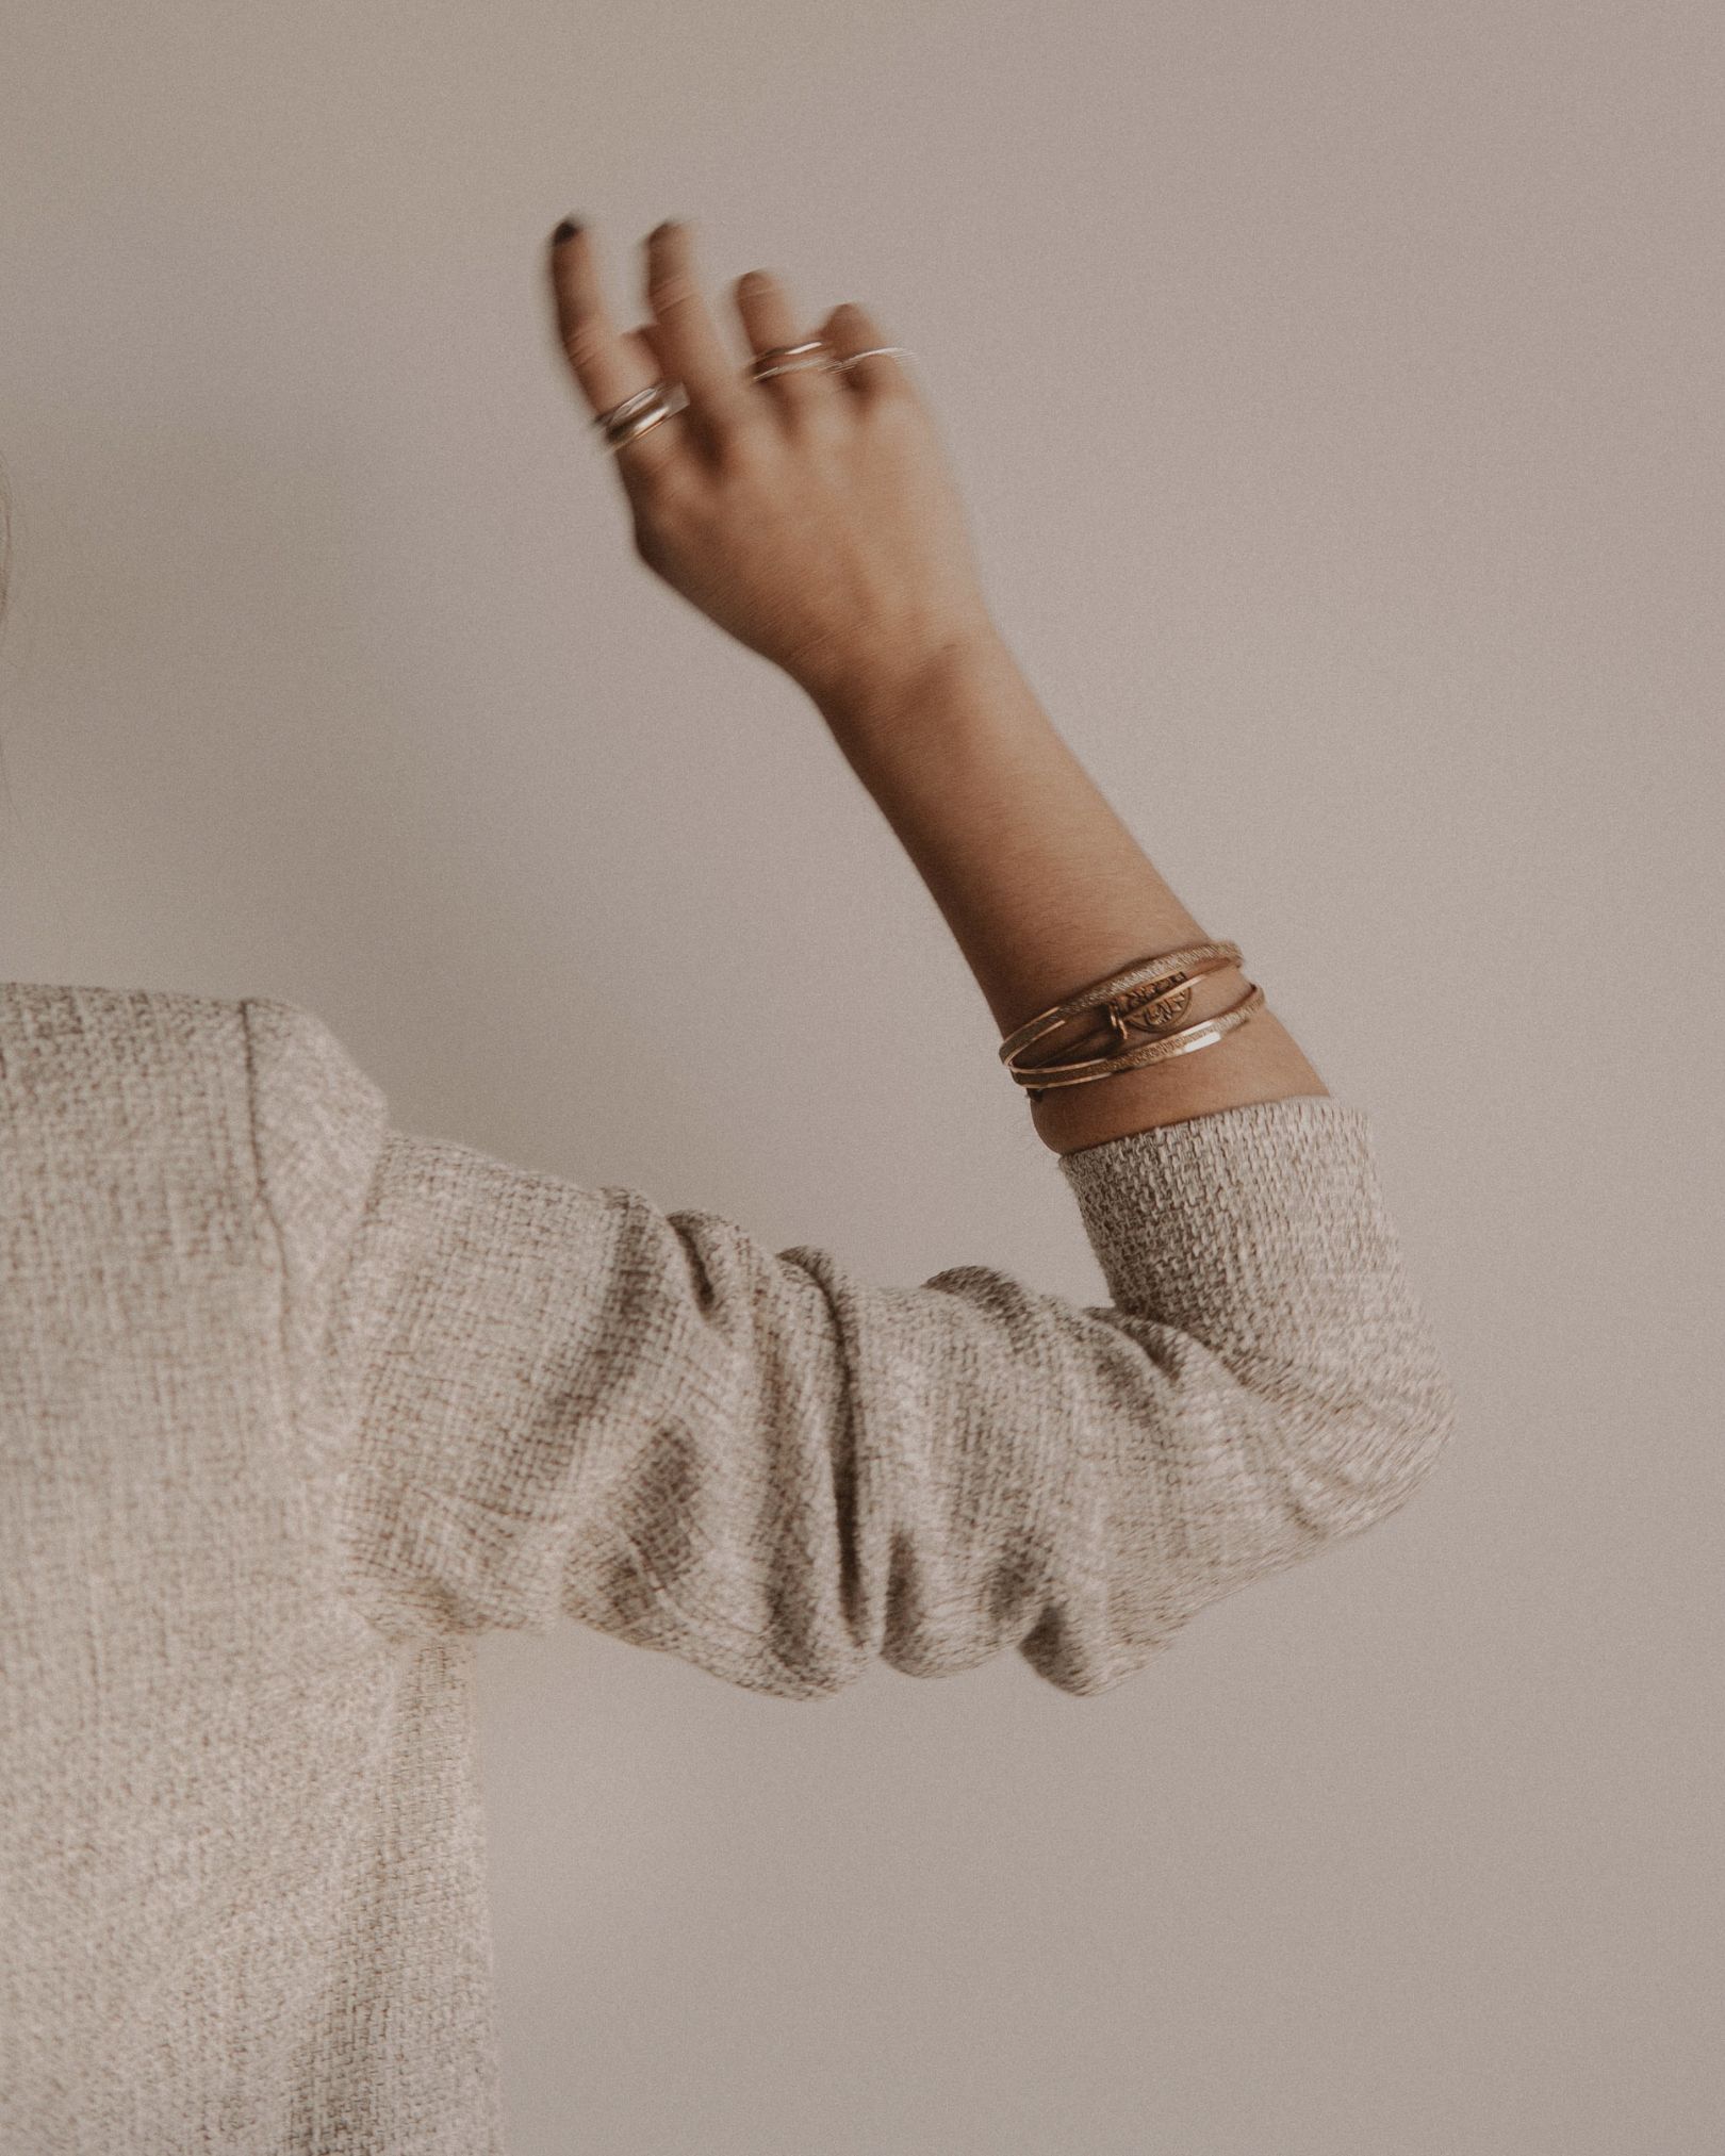
[[[727,351],[688,226],[645,241],[651,319],[619,332],[593,233],[554,241],[556,334],[593,414],[653,382],[688,397],[617,453],[636,554],[817,705],[910,683],[994,636],[934,418],[901,358],[757,382]],[[806,343],[772,274],[733,287],[750,354]],[[854,304],[817,332],[834,360],[886,345]]]

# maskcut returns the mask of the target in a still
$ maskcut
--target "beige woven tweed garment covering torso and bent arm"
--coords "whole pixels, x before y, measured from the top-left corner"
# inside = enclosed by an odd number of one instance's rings
[[[487,1630],[1091,1697],[1412,1496],[1361,1110],[1046,1158],[1108,1302],[414,1136],[289,1003],[0,983],[0,2147],[500,2156]]]

